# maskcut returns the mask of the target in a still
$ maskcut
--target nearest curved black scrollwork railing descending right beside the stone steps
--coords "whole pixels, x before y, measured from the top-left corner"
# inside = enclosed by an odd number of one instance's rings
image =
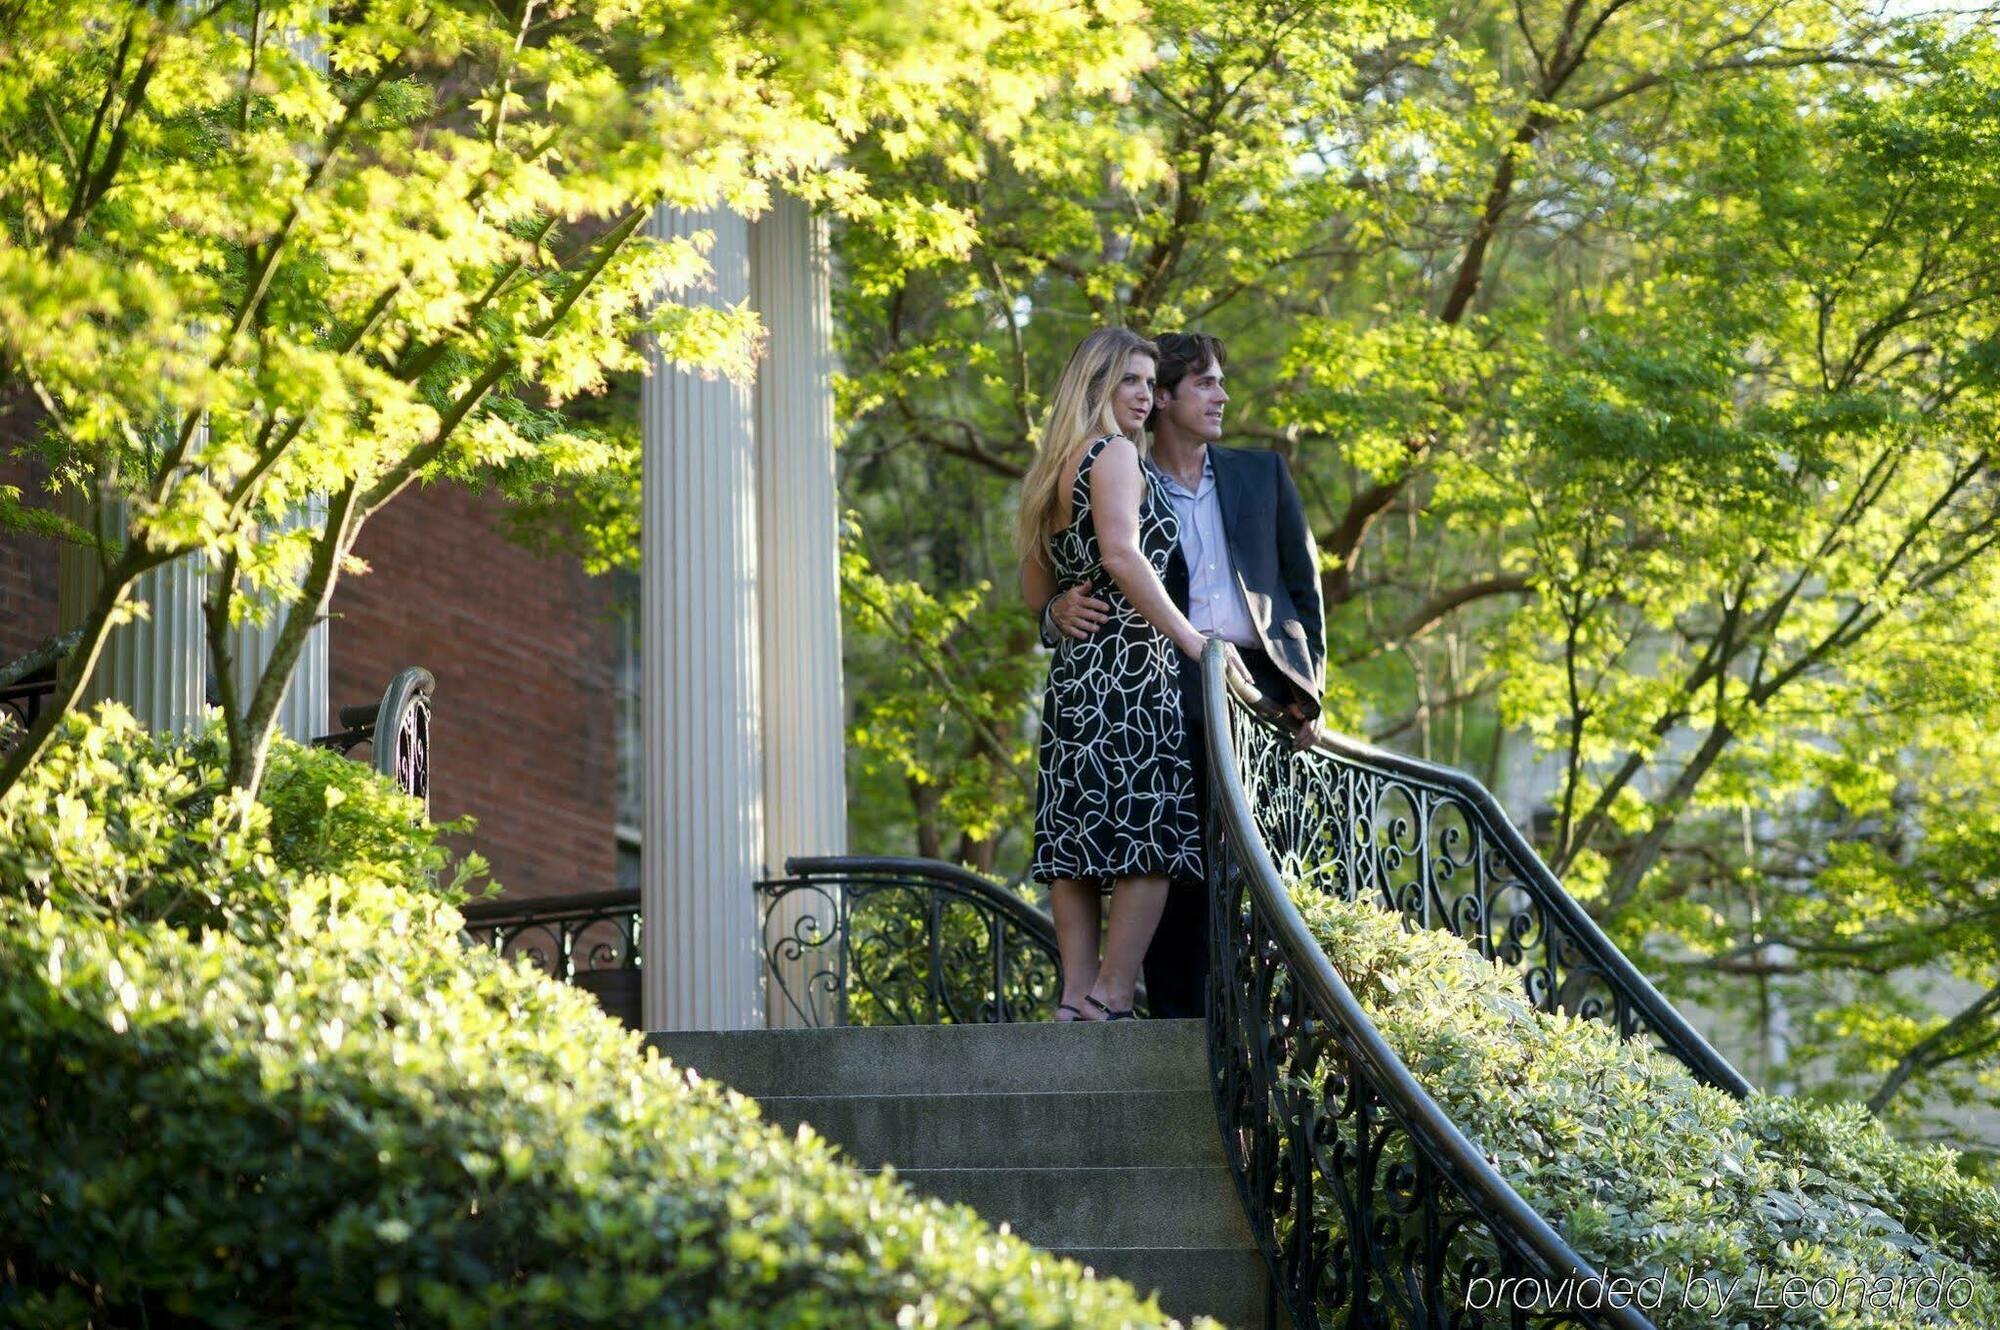
[[[1594,1308],[1574,1296],[1538,1308],[1544,1326],[1650,1330],[1630,1300],[1602,1306],[1602,1274],[1458,1130],[1312,938],[1238,772],[1232,682],[1210,642],[1208,1046],[1224,1152],[1292,1324],[1320,1326],[1322,1308],[1344,1304],[1346,1324],[1380,1324],[1384,1304],[1408,1324],[1464,1324],[1480,1278],[1532,1276],[1598,1290]],[[1322,1190],[1342,1232],[1318,1222]]]

